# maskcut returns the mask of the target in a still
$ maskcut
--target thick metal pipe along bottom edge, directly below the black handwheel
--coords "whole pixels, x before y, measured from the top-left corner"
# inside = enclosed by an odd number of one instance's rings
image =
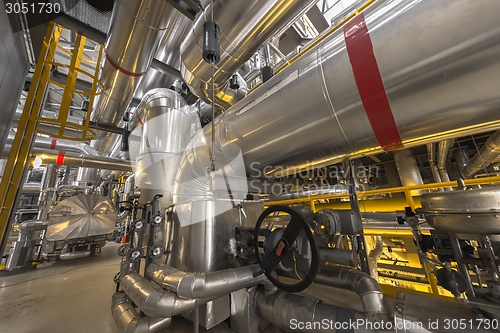
[[[269,294],[264,288],[260,288],[255,293],[254,306],[260,316],[285,332],[372,332],[366,330],[364,325],[349,325],[357,323],[358,320],[364,322],[365,316],[361,312],[282,291]],[[310,326],[306,328],[306,325]],[[336,327],[345,329],[336,330]]]

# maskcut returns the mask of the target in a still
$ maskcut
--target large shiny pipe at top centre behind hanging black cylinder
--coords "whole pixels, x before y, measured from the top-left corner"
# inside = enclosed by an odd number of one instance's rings
[[[215,71],[215,103],[227,109],[242,99],[246,89],[229,89],[227,80],[248,61],[280,28],[293,23],[317,0],[219,0],[214,2],[214,20],[220,28],[221,58]],[[211,100],[211,69],[201,57],[203,24],[210,20],[208,5],[196,19],[181,44],[181,73],[191,91],[206,102]],[[245,81],[240,78],[240,82]]]

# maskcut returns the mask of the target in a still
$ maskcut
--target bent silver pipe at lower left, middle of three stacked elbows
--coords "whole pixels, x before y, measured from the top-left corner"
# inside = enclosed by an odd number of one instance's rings
[[[159,290],[145,277],[129,273],[120,279],[120,286],[127,296],[146,316],[169,318],[206,304],[217,297],[190,299]]]

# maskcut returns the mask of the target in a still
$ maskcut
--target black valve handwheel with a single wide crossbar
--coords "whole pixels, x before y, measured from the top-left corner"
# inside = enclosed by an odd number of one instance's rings
[[[283,236],[276,243],[273,250],[270,253],[266,254],[264,258],[262,258],[262,255],[259,250],[260,227],[266,217],[276,212],[284,212],[290,215],[290,222],[288,222],[288,225],[285,228]],[[276,269],[276,266],[278,266],[278,264],[286,256],[288,251],[290,251],[291,246],[293,245],[293,243],[295,242],[299,233],[302,230],[305,232],[307,240],[309,241],[309,245],[311,246],[311,265],[309,267],[309,271],[307,272],[307,275],[304,278],[302,278],[302,280],[298,283],[295,284],[283,283],[276,277],[275,274],[273,274],[273,272]],[[297,213],[295,210],[293,210],[288,206],[277,205],[267,208],[259,216],[259,219],[257,220],[257,224],[255,225],[254,237],[255,237],[254,238],[255,254],[257,256],[257,260],[259,262],[260,267],[263,270],[263,273],[266,275],[269,281],[272,282],[272,284],[274,284],[276,287],[278,287],[283,291],[297,293],[306,289],[311,285],[311,283],[313,283],[319,270],[318,247],[316,244],[316,240],[314,239],[313,233],[311,231],[311,228],[299,213]]]

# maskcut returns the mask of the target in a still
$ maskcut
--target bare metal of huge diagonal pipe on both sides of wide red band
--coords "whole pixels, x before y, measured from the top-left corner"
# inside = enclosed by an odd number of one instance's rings
[[[500,91],[482,83],[500,77],[500,26],[493,14],[499,10],[495,0],[410,0],[377,1],[365,11],[406,147],[438,141],[445,132],[462,136],[449,131],[465,126],[498,122]],[[342,31],[215,121],[220,149],[239,146],[253,176],[283,169],[295,173],[382,151],[360,101]],[[209,142],[210,126],[204,136]],[[199,163],[188,156],[181,165]]]

